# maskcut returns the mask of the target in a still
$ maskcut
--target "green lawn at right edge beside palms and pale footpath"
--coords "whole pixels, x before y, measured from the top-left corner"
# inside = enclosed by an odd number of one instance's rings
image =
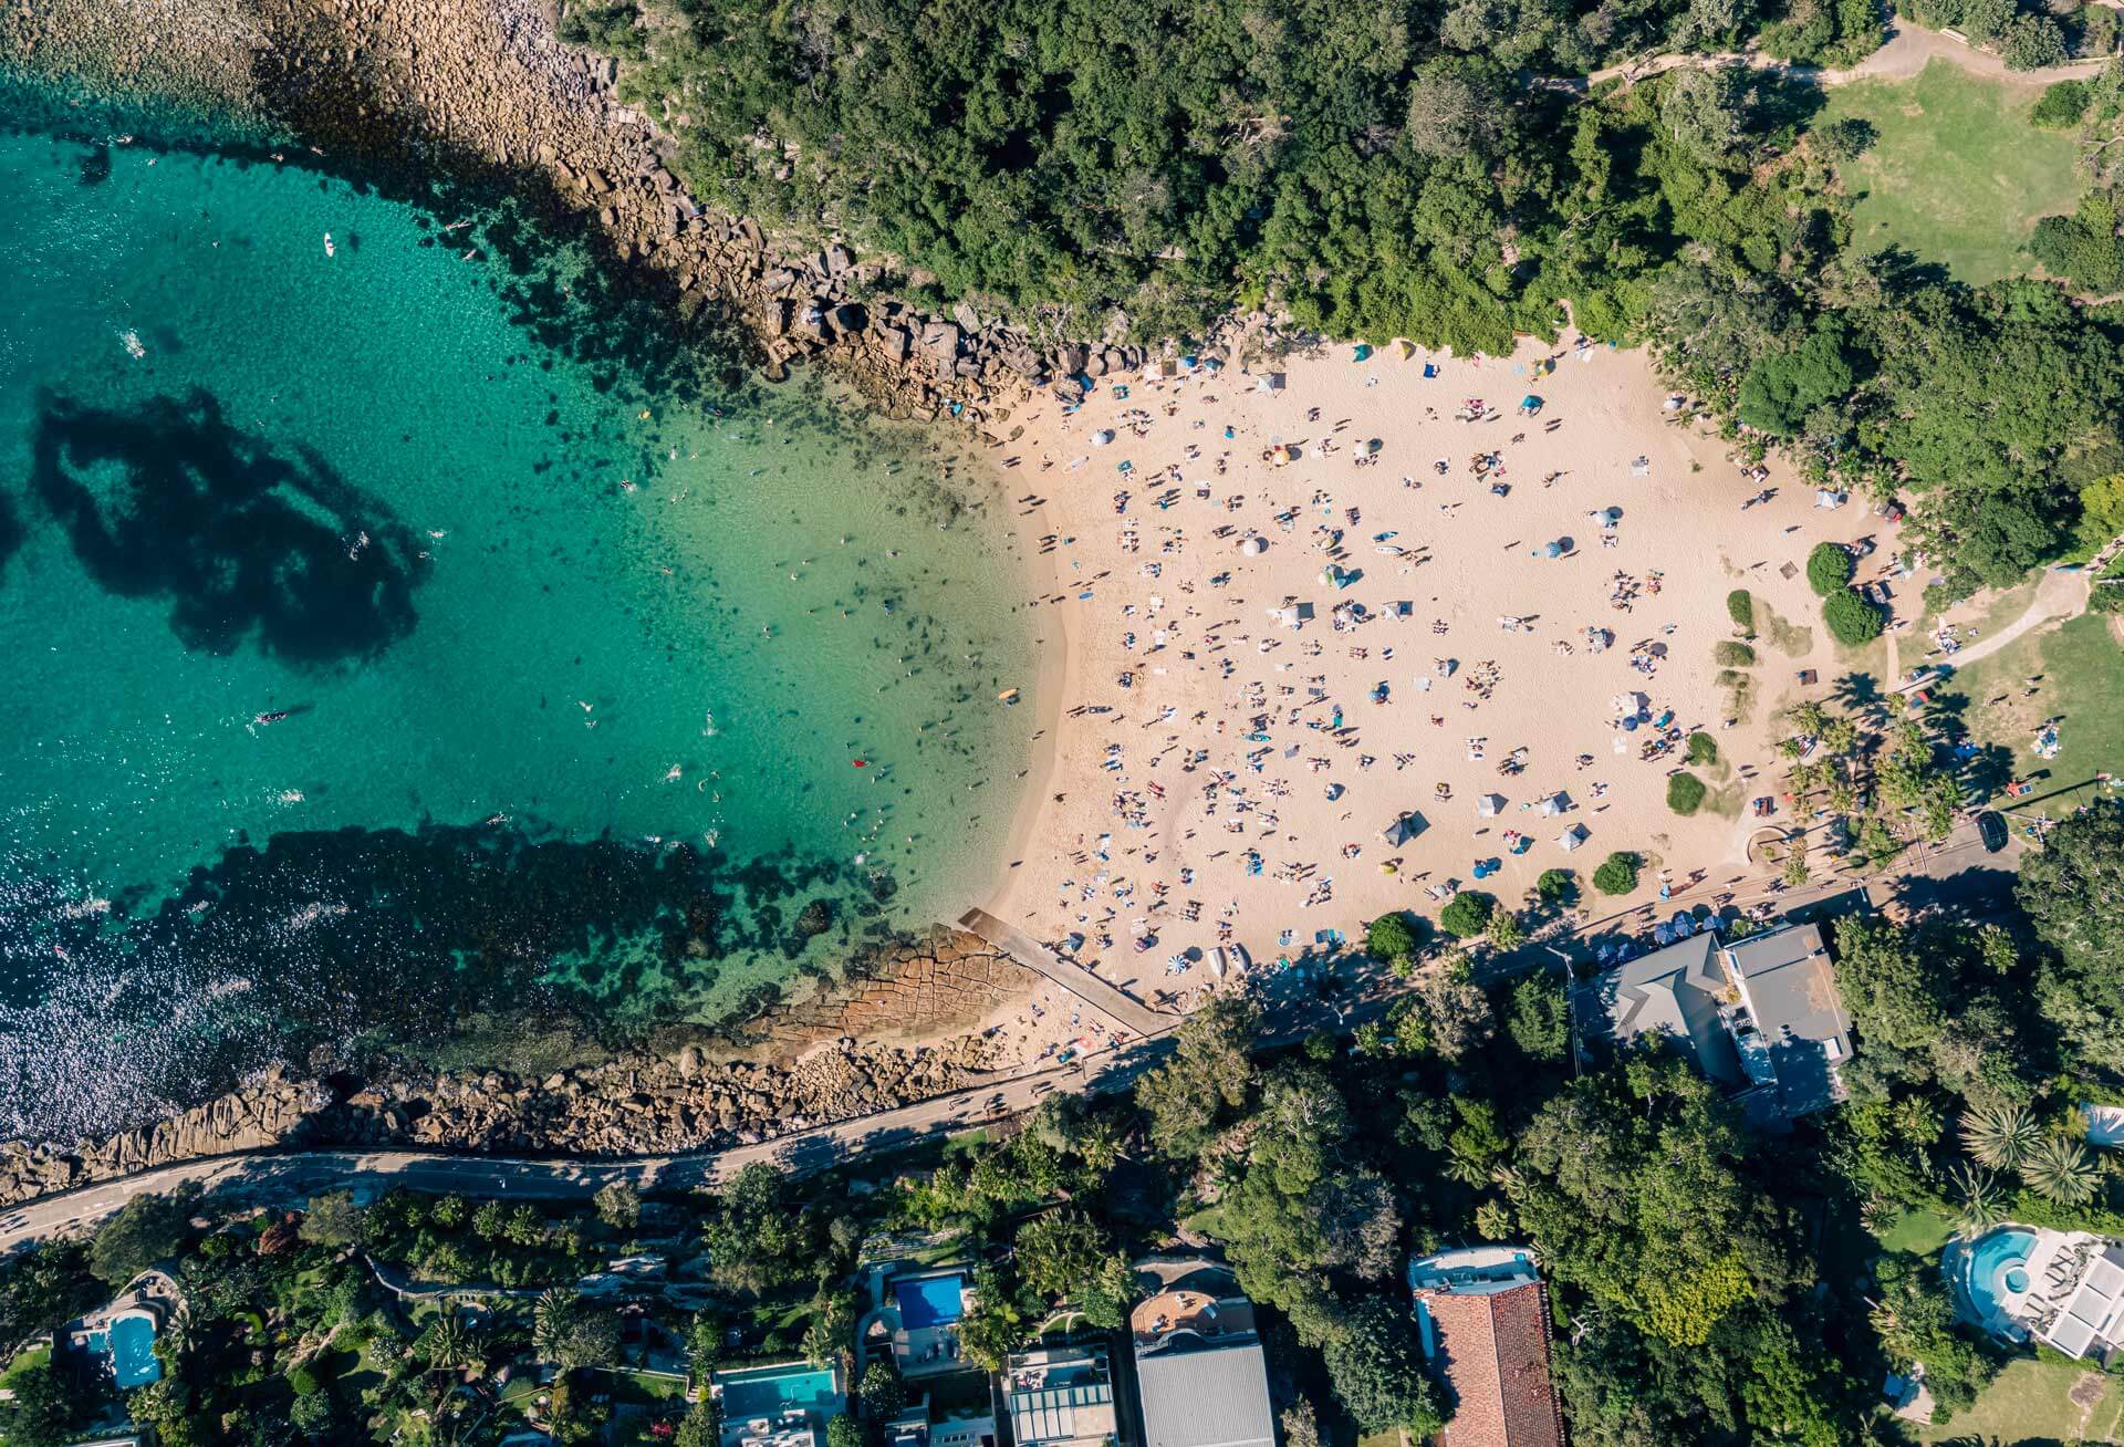
[[[2041,693],[2022,699],[2022,680],[2043,676]],[[2067,618],[2039,629],[1948,680],[1941,695],[1967,699],[1967,725],[1977,744],[2014,750],[2014,771],[2035,778],[2035,793],[2011,807],[2024,814],[2071,814],[2099,797],[2096,773],[2124,773],[2124,644],[2105,614]],[[1992,699],[2003,701],[1992,703]],[[2056,759],[2037,759],[2035,731],[2060,716]],[[2007,801],[1994,801],[2005,807]]]

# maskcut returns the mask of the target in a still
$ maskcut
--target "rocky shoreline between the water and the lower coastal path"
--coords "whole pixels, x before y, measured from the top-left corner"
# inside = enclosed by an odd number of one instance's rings
[[[253,1150],[601,1158],[750,1145],[979,1084],[1000,1065],[992,1037],[939,1033],[1024,999],[1030,982],[1030,971],[979,939],[939,931],[845,992],[769,1011],[754,1026],[765,1058],[716,1058],[688,1043],[669,1056],[637,1052],[544,1077],[478,1071],[374,1082],[291,1079],[276,1067],[153,1126],[72,1147],[0,1143],[0,1207]]]

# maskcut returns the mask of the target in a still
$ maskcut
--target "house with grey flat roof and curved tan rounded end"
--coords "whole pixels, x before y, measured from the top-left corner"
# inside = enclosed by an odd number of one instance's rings
[[[1253,1303],[1204,1269],[1128,1315],[1143,1447],[1274,1447]]]

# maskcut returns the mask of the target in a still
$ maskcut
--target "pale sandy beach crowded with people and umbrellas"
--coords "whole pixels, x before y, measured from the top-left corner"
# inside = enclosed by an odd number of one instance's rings
[[[1185,1009],[1219,948],[1226,980],[1304,967],[1457,888],[1517,907],[1572,869],[1593,918],[1763,873],[1750,839],[1793,822],[1776,712],[1884,652],[1829,640],[1808,550],[1869,540],[1871,580],[1888,521],[1744,467],[1644,353],[1576,336],[1155,372],[1034,402],[998,453],[1062,663],[990,914]],[[1716,761],[1684,818],[1693,733]],[[1591,890],[1610,852],[1642,861],[1627,897]],[[1100,1043],[1043,994],[1041,1050]]]

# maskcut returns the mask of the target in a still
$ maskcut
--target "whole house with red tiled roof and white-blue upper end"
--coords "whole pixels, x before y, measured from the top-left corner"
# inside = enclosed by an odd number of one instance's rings
[[[1563,1447],[1548,1296],[1534,1254],[1478,1245],[1408,1262],[1423,1356],[1453,1392],[1438,1447]]]

